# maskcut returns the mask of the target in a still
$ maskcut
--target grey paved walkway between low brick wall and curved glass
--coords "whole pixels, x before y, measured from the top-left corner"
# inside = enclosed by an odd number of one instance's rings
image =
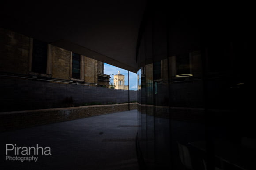
[[[138,170],[136,125],[132,110],[0,133],[0,169]],[[37,162],[6,161],[6,144],[38,144],[50,147],[52,155],[41,156],[39,150]]]

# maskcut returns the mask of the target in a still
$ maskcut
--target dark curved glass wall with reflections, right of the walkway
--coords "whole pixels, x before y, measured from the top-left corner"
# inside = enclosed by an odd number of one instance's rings
[[[136,56],[142,169],[255,168],[250,42],[228,10],[148,4]]]

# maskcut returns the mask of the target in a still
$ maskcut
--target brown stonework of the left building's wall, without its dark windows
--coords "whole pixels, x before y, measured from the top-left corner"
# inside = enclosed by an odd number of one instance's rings
[[[74,80],[71,78],[71,51],[50,45],[48,48],[47,74],[39,74],[31,72],[32,49],[32,38],[0,28],[0,73],[11,74],[12,76],[19,74],[19,76],[25,77],[40,76],[40,79],[59,79],[65,80],[67,83]],[[82,61],[82,78],[75,81],[97,86],[98,72],[104,73],[103,63],[86,56],[81,59]]]

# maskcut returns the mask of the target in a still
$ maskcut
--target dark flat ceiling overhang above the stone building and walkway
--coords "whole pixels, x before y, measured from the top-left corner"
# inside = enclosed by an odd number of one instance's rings
[[[136,72],[145,0],[5,2],[2,28]]]

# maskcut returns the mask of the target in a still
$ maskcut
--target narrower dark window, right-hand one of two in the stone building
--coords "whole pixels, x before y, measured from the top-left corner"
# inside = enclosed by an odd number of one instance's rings
[[[72,53],[72,78],[80,79],[81,55]]]

